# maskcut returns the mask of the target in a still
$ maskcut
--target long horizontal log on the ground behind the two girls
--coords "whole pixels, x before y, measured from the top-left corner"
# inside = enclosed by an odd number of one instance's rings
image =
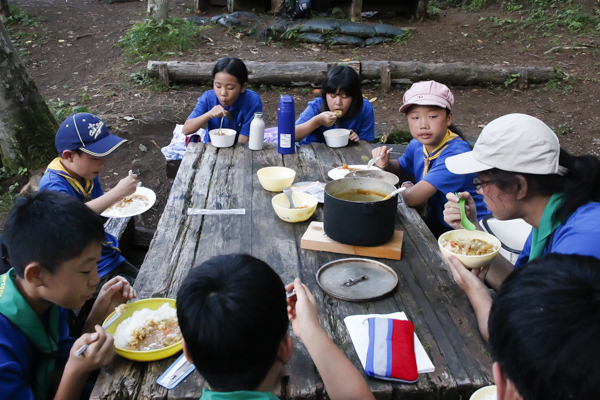
[[[261,63],[247,61],[249,82],[269,85],[320,84],[327,70],[334,65],[348,63],[290,62]],[[391,79],[409,79],[412,82],[435,80],[447,85],[500,85],[519,76],[525,83],[543,83],[550,80],[552,68],[486,66],[465,63],[426,64],[400,61],[362,61],[358,71],[362,80],[379,80],[382,67],[389,67]],[[148,74],[158,77],[158,66],[166,65],[169,79],[182,83],[212,83],[214,63],[149,61]]]

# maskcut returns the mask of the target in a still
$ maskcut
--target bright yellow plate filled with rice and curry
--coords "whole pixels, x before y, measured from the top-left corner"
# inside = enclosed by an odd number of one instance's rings
[[[182,336],[176,311],[174,299],[145,299],[128,304],[106,330],[115,339],[117,354],[134,361],[156,361],[180,351]]]

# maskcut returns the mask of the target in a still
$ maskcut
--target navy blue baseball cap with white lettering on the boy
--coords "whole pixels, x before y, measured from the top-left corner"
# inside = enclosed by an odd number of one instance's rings
[[[73,114],[65,119],[54,139],[59,153],[79,149],[94,157],[106,157],[125,142],[126,139],[109,133],[100,118],[88,113]]]

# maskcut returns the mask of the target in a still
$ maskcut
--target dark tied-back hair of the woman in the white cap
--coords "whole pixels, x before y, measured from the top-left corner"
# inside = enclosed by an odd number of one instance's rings
[[[494,184],[505,191],[516,191],[519,185],[517,175],[521,175],[527,181],[527,196],[563,193],[563,202],[552,218],[565,223],[580,206],[600,201],[600,160],[593,156],[573,156],[560,149],[558,163],[569,170],[565,176],[524,174],[497,168],[484,173],[489,174]]]

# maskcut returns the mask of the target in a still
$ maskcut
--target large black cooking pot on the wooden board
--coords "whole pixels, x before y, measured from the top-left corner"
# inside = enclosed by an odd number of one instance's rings
[[[335,195],[356,189],[387,195],[396,188],[371,178],[346,178],[325,186],[323,225],[335,241],[354,246],[378,246],[394,235],[398,196],[383,201],[348,201]]]

